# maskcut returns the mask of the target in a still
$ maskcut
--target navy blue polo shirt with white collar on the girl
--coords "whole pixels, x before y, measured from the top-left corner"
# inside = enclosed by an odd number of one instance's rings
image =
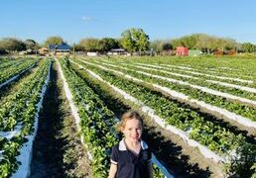
[[[146,142],[140,142],[141,150],[138,155],[126,148],[124,139],[112,147],[111,163],[117,165],[116,178],[149,178],[151,151]]]

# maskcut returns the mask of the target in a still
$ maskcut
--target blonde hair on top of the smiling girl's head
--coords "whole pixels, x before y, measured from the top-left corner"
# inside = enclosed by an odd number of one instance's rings
[[[133,120],[133,119],[140,121],[141,127],[143,128],[143,120],[142,120],[142,117],[140,116],[140,114],[137,111],[128,111],[123,114],[121,121],[117,126],[118,131],[122,132],[123,129],[125,128],[127,121]]]

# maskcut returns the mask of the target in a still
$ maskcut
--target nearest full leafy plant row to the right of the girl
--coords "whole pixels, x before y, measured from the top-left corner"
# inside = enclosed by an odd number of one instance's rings
[[[225,156],[230,162],[234,159],[245,159],[246,167],[243,170],[250,170],[255,161],[256,145],[248,143],[242,134],[233,134],[228,129],[205,120],[198,113],[181,107],[179,104],[166,99],[161,94],[156,94],[140,84],[127,81],[127,79],[97,67],[83,65],[99,74],[105,81],[110,82],[112,85],[144,102],[145,105],[153,108],[156,114],[163,118],[167,124],[187,132],[192,139],[206,145],[217,154]],[[239,152],[241,147],[246,147],[246,151]],[[240,162],[240,164],[242,163]]]

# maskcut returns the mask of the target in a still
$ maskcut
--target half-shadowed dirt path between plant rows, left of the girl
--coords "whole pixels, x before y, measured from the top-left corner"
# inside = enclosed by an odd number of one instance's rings
[[[55,63],[40,113],[31,162],[31,178],[90,177],[89,161],[59,76]]]

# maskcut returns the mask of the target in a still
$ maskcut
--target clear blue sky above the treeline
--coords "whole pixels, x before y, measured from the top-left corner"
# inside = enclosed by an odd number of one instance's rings
[[[85,38],[119,38],[142,28],[150,40],[193,33],[256,45],[254,0],[2,0],[0,39],[43,43],[61,36],[69,44]]]

